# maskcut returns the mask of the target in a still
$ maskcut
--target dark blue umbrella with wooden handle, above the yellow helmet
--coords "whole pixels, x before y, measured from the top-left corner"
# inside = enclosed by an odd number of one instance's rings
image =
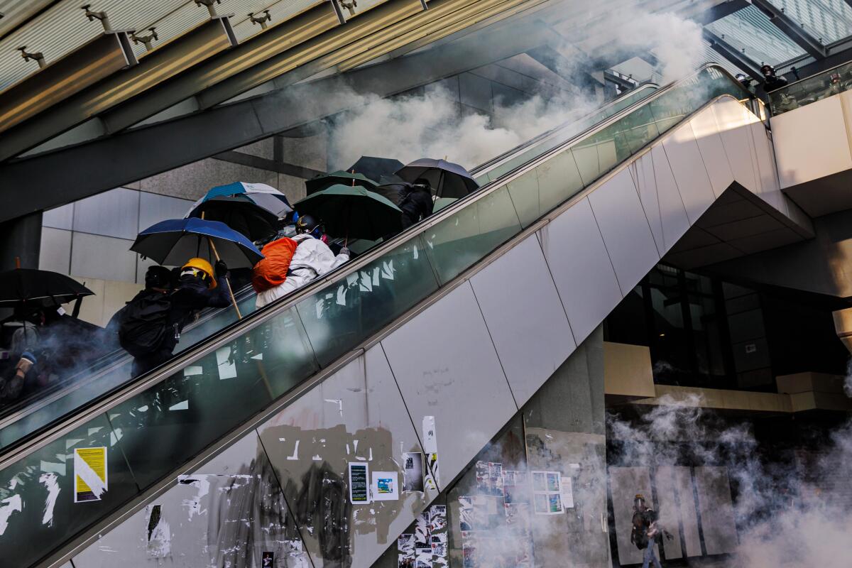
[[[254,267],[263,258],[242,233],[225,223],[197,217],[160,221],[140,232],[130,250],[176,267],[196,256],[221,258],[229,268]]]

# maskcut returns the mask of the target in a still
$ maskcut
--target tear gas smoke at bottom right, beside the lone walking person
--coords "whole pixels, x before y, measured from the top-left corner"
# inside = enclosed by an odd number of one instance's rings
[[[726,466],[735,489],[739,545],[730,565],[736,568],[844,564],[852,534],[846,486],[852,474],[852,423],[821,447],[809,445],[805,450],[817,457],[803,463],[762,450],[749,425],[725,422],[699,408],[698,397],[663,397],[659,403],[634,422],[607,416],[610,439],[618,447],[611,465]],[[676,526],[676,519],[668,525]]]

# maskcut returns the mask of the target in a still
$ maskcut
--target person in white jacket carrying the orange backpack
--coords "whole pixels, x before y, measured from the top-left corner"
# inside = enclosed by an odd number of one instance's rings
[[[257,294],[256,306],[264,307],[273,301],[290,294],[293,290],[308,284],[314,278],[330,273],[349,260],[349,250],[340,250],[337,256],[328,245],[320,240],[322,230],[311,215],[302,215],[296,221],[296,252],[290,261],[287,278],[284,282]]]

